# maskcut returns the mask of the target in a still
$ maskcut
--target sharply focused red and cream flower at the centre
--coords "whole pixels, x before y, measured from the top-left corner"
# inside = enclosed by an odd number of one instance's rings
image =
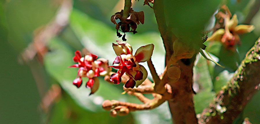
[[[148,61],[152,54],[154,45],[148,44],[138,48],[133,55],[133,49],[130,44],[126,42],[116,41],[118,44],[112,44],[113,49],[117,55],[113,65],[116,63],[118,66],[109,66],[118,69],[117,73],[110,76],[110,81],[114,84],[120,84],[121,77],[124,73],[129,76],[129,80],[126,82],[126,88],[134,88],[144,82],[147,78],[147,71],[144,66],[139,65],[140,62]]]

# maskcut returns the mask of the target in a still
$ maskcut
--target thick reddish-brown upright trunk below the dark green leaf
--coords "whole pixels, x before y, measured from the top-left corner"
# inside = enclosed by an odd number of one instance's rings
[[[181,69],[181,77],[177,82],[169,83],[172,86],[173,100],[169,100],[168,103],[174,124],[195,124],[198,122],[193,103],[192,69],[195,58],[192,59],[190,65],[185,65],[181,60],[177,62]]]

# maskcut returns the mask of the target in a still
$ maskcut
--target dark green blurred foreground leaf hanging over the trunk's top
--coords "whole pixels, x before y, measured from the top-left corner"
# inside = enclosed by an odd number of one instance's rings
[[[199,44],[205,24],[218,9],[220,0],[166,0],[164,12],[172,32],[184,42]]]

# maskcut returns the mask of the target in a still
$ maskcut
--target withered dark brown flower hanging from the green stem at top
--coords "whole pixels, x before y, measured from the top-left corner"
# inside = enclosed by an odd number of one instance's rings
[[[116,23],[116,20],[119,19],[120,22]],[[144,12],[140,11],[140,12],[136,12],[133,11],[133,9],[131,8],[129,16],[127,18],[123,17],[123,10],[121,10],[120,12],[115,13],[114,15],[111,16],[111,22],[116,24],[116,34],[118,36],[118,38],[120,38],[122,36],[122,34],[120,34],[118,32],[118,30],[120,30],[123,33],[126,32],[133,32],[133,34],[137,33],[136,28],[138,24],[144,24]],[[131,27],[131,30],[130,30]],[[123,41],[126,41],[125,39],[125,34],[122,37]]]

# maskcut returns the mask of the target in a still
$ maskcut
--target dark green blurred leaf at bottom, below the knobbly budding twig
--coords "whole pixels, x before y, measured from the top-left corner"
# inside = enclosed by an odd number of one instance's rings
[[[66,94],[62,94],[62,98],[51,109],[51,118],[49,119],[51,124],[131,124],[133,123],[133,117],[131,113],[127,116],[111,117],[108,112],[91,112],[82,109],[80,106]]]

